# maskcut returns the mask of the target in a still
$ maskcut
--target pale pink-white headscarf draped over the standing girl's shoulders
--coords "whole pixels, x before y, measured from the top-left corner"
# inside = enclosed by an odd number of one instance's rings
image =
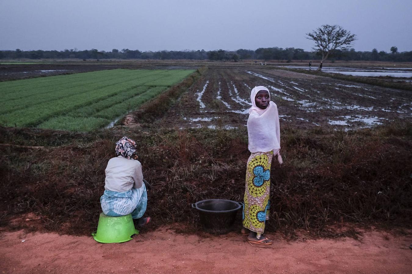
[[[270,101],[266,109],[258,108],[255,103],[255,97],[260,90],[269,92],[264,86],[254,87],[250,92],[252,107],[249,110],[247,124],[249,137],[248,149],[250,152],[268,152],[273,150],[273,154],[276,155],[279,154],[281,149],[278,107],[274,102]],[[280,154],[278,160],[279,163],[282,163]]]

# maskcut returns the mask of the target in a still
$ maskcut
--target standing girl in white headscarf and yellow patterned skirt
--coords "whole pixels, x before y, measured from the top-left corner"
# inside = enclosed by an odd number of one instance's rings
[[[280,127],[278,107],[270,101],[266,87],[254,87],[250,92],[252,107],[248,118],[248,149],[251,152],[246,164],[246,190],[243,206],[243,228],[241,233],[248,235],[252,244],[272,244],[263,233],[269,219],[270,207],[270,166],[272,157],[280,151]]]

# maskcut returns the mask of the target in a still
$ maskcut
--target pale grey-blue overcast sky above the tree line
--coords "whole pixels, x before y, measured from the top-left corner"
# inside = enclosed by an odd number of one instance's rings
[[[357,51],[412,51],[412,0],[0,0],[0,49],[311,50],[341,25]]]

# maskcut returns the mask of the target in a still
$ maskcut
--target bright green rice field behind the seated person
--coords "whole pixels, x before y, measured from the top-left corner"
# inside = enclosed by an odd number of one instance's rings
[[[113,69],[0,82],[0,124],[91,131],[138,109],[193,72]]]

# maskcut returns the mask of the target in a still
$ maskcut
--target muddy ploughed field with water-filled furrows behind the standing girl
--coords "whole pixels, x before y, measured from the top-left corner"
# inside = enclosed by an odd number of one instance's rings
[[[412,94],[279,69],[209,69],[164,115],[164,126],[232,129],[246,126],[250,90],[264,85],[282,124],[358,129],[412,120]]]

